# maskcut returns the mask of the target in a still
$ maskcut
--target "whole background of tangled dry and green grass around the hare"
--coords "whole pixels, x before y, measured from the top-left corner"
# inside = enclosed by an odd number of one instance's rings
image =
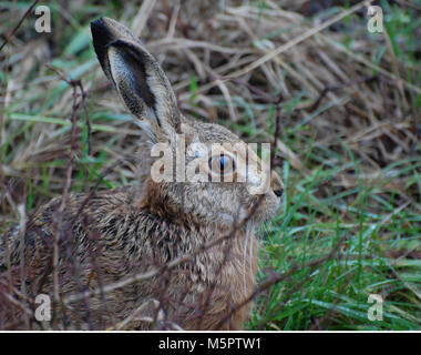
[[[89,22],[109,16],[130,26],[137,4],[79,2],[51,1],[53,32],[37,33],[32,14],[0,52],[0,229],[19,220],[19,204],[30,213],[63,189],[72,88],[47,62],[81,79],[88,92],[92,136],[81,110],[72,190],[89,191],[115,161],[135,154],[136,128],[99,68]],[[240,81],[217,83],[216,75],[244,69],[355,2],[224,3],[187,1],[176,12],[157,1],[142,38],[162,61],[186,114],[218,120],[246,141],[271,139],[276,110],[244,82],[284,98],[276,170],[286,189],[278,215],[259,231],[259,280],[292,272],[259,295],[247,327],[420,329],[421,3],[380,1],[384,33],[369,33],[359,11]],[[1,33],[29,6],[0,1]],[[371,75],[377,77],[353,82]],[[337,89],[310,110],[328,85]],[[136,183],[130,162],[113,169],[101,189],[127,183]],[[338,243],[338,252],[322,260]],[[306,266],[311,261],[320,262]],[[382,321],[368,320],[370,294],[384,301]]]

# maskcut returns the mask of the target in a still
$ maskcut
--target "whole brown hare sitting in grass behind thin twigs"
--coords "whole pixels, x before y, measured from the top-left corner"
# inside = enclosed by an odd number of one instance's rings
[[[266,191],[250,191],[261,179],[248,164],[268,164],[233,151],[246,143],[227,129],[185,118],[160,64],[129,29],[101,18],[91,30],[105,75],[140,125],[140,185],[57,197],[24,232],[2,235],[0,291],[11,277],[22,300],[23,270],[25,300],[52,300],[51,322],[38,323],[44,328],[240,329],[250,311],[242,302],[255,287],[254,229],[274,216],[283,182],[273,172]],[[183,169],[202,159],[208,181],[154,179],[162,156],[153,146],[176,152],[179,136]],[[1,300],[0,292],[0,308]]]

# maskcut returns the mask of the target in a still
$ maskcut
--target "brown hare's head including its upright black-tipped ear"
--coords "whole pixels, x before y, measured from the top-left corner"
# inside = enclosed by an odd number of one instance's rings
[[[102,69],[143,132],[140,205],[226,226],[274,215],[283,182],[255,149],[218,124],[183,116],[160,64],[125,27],[101,18],[91,29]]]

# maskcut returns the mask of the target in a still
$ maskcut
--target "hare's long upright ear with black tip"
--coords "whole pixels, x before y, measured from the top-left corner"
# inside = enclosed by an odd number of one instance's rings
[[[179,112],[158,62],[127,28],[112,19],[92,22],[91,31],[101,67],[130,112],[148,120],[154,131],[174,133]]]

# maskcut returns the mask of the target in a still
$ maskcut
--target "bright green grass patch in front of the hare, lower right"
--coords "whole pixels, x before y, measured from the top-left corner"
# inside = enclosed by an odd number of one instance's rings
[[[420,159],[409,160],[412,174]],[[342,162],[322,166],[306,180],[292,182],[284,215],[263,234],[264,268],[288,272],[326,254],[345,237],[337,257],[317,268],[304,267],[274,286],[261,298],[251,328],[265,329],[417,329],[420,326],[419,281],[421,261],[411,252],[420,247],[420,214],[394,207],[396,197],[376,194],[384,181],[318,199],[317,186],[335,184],[335,175],[349,169]],[[358,162],[352,162],[358,169]],[[402,170],[398,170],[397,174]],[[345,199],[352,203],[345,203]],[[415,254],[419,255],[419,254]],[[263,277],[263,275],[261,275]],[[369,322],[370,294],[381,295],[383,320]]]

